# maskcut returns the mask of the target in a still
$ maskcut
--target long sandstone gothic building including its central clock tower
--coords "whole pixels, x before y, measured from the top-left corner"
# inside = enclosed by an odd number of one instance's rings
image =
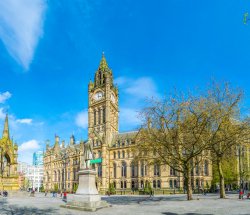
[[[93,144],[92,165],[97,171],[97,187],[105,193],[113,183],[117,193],[131,193],[143,189],[150,183],[157,193],[183,188],[182,176],[167,165],[149,164],[146,159],[134,161],[133,147],[137,131],[119,133],[118,88],[113,83],[113,74],[104,55],[95,73],[94,82],[88,86],[88,137]],[[44,187],[72,191],[78,183],[77,171],[80,169],[82,141],[75,144],[74,137],[65,147],[47,144],[44,156]],[[204,156],[205,158],[205,156]],[[211,184],[212,165],[208,159],[194,168],[192,177],[194,187],[204,188]],[[57,186],[56,185],[56,186]]]

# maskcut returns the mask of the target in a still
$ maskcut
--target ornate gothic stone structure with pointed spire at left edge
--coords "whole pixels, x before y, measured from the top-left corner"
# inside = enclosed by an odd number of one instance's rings
[[[10,139],[8,115],[6,115],[0,139],[0,190],[19,190],[17,150],[17,144]]]

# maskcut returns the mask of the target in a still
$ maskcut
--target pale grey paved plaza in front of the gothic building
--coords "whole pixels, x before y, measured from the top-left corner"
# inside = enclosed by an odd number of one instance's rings
[[[162,214],[162,215],[212,215],[212,214],[250,214],[250,200],[239,200],[237,194],[230,194],[227,199],[218,195],[194,195],[195,200],[186,201],[185,195],[165,196],[103,196],[102,200],[112,204],[96,212],[84,212],[61,208],[65,204],[60,197],[28,194],[0,198],[0,214]]]

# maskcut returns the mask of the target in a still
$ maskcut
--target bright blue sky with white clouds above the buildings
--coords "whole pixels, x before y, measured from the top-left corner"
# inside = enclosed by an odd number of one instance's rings
[[[120,131],[145,98],[229,81],[250,104],[250,1],[3,0],[0,129],[5,113],[31,162],[54,135],[86,139],[87,86],[104,51],[120,93]]]

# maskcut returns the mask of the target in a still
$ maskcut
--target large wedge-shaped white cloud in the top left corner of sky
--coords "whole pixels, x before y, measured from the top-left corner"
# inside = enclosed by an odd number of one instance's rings
[[[45,0],[0,1],[0,38],[10,55],[26,70],[43,34]]]

